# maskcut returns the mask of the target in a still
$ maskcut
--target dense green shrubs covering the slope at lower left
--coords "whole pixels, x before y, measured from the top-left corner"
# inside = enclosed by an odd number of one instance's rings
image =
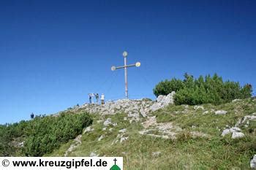
[[[17,154],[18,148],[13,143],[18,139],[19,142],[24,141],[24,146],[20,150],[21,155],[45,155],[69,139],[74,139],[91,123],[91,117],[86,113],[62,113],[57,117],[37,116],[34,120],[1,125],[0,155],[15,155],[15,152]]]

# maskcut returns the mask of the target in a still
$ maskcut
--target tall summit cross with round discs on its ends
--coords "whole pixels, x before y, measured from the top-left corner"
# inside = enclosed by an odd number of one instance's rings
[[[128,53],[126,51],[124,51],[124,53],[123,53],[124,66],[112,66],[111,67],[112,71],[115,71],[116,69],[124,69],[125,98],[128,98],[127,68],[132,67],[132,66],[136,66],[136,67],[140,66],[140,62],[127,65],[127,55],[128,55]]]

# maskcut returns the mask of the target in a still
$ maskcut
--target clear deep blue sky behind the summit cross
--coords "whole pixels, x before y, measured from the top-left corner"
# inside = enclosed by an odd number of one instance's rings
[[[256,1],[0,1],[0,123],[88,102],[154,98],[157,82],[214,74],[256,90]]]

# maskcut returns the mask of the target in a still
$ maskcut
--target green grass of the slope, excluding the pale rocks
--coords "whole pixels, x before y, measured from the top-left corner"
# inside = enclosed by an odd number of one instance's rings
[[[230,135],[222,137],[221,134],[226,125],[233,127],[239,118],[256,112],[256,101],[246,99],[219,106],[202,106],[204,110],[192,106],[169,106],[151,114],[157,116],[157,122],[173,122],[183,129],[175,140],[141,136],[138,131],[143,126],[140,122],[130,124],[129,119],[124,120],[127,116],[124,113],[105,117],[94,115],[91,126],[94,131],[83,134],[82,144],[69,156],[89,156],[91,152],[99,156],[121,156],[124,157],[124,169],[249,169],[249,159],[256,153],[256,121],[251,121],[249,127],[240,126],[246,135],[242,139],[231,139]],[[224,109],[227,115],[214,115],[211,109]],[[206,110],[209,113],[204,115]],[[102,131],[103,122],[97,120],[108,117],[117,125]],[[122,128],[127,128],[125,136],[129,139],[111,145]],[[189,131],[199,131],[207,137],[195,138]],[[98,142],[102,134],[105,137]],[[71,143],[64,144],[50,156],[63,156]],[[153,152],[161,153],[153,155]]]

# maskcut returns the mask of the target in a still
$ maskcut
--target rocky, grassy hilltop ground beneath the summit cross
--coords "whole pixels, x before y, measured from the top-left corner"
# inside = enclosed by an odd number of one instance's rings
[[[256,166],[255,98],[218,106],[176,106],[174,94],[156,101],[121,99],[69,109],[65,112],[89,112],[94,122],[50,155],[118,155],[124,157],[125,169]]]

